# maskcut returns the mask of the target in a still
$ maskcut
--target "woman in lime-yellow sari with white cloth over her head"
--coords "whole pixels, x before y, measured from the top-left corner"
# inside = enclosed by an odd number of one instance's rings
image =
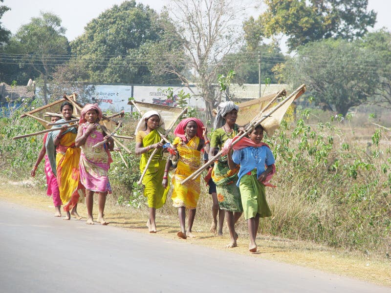
[[[160,142],[160,134],[156,128],[164,128],[163,118],[156,111],[148,111],[140,119],[136,127],[136,155],[141,155],[140,171],[143,173],[153,149],[157,152],[153,155],[151,163],[143,177],[144,195],[148,198],[149,219],[147,227],[150,233],[156,233],[156,209],[160,209],[165,203],[170,186],[163,187],[161,180],[164,174],[165,162],[163,160],[163,144]]]

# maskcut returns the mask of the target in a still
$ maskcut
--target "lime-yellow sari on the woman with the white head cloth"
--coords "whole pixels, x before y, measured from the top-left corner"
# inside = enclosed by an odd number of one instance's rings
[[[151,146],[160,142],[160,134],[153,129],[143,138],[143,146]],[[148,152],[141,155],[140,171],[144,172],[145,166],[154,149],[150,149]],[[170,184],[167,188],[163,188],[162,179],[164,175],[164,168],[166,167],[166,161],[163,160],[163,149],[158,149],[153,155],[153,158],[148,166],[147,172],[143,177],[144,196],[148,198],[148,207],[160,209],[167,199],[167,193],[170,190]]]

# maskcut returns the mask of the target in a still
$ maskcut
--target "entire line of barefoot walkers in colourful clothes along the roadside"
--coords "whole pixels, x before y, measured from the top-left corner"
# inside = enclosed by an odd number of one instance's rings
[[[57,123],[71,120],[73,105],[64,102],[60,109],[63,119]],[[238,239],[235,223],[244,208],[250,234],[249,251],[257,251],[255,237],[259,218],[271,215],[264,195],[264,184],[275,171],[274,157],[270,148],[261,143],[261,126],[254,129],[239,148],[227,145],[227,141],[232,141],[243,131],[236,124],[238,110],[239,107],[233,102],[221,103],[218,106],[215,130],[210,141],[207,129],[199,119],[186,118],[179,122],[174,130],[174,142],[171,144],[172,155],[167,160],[163,157],[164,144],[158,131],[159,126],[164,129],[164,117],[156,111],[148,111],[142,116],[135,130],[135,153],[141,155],[140,171],[144,172],[142,183],[145,186],[144,195],[148,198],[149,232],[156,233],[156,209],[166,203],[168,191],[172,186],[171,199],[173,206],[178,208],[180,226],[177,236],[182,239],[195,236],[192,228],[200,194],[200,179],[198,177],[185,184],[182,184],[182,181],[201,166],[201,152],[212,157],[219,149],[225,148],[225,154],[215,162],[211,179],[208,180],[209,193],[213,195],[214,201],[216,197],[218,202],[218,208],[215,203],[213,215],[217,217],[217,210],[224,211],[231,239],[226,247],[232,248],[237,246]],[[65,220],[69,220],[71,215],[80,218],[77,205],[86,198],[87,224],[93,224],[93,193],[96,192],[97,220],[102,225],[109,224],[104,219],[104,208],[106,196],[111,193],[108,170],[112,160],[109,151],[113,149],[114,143],[99,125],[101,118],[102,112],[98,105],[87,104],[82,109],[78,129],[66,124],[54,126],[58,127],[58,130],[45,136],[43,148],[31,171],[34,176],[46,152],[47,193],[53,196],[56,216],[61,216],[60,206],[64,205]],[[105,143],[99,145],[102,141]],[[219,212],[220,220],[224,213]],[[220,221],[219,234],[222,233],[222,223]],[[211,231],[215,233],[216,225],[217,220],[214,219]]]

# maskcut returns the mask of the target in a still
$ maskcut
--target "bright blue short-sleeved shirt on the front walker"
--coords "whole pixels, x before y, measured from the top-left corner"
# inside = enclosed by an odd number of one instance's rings
[[[237,186],[243,175],[257,168],[257,178],[265,171],[265,165],[270,166],[274,164],[274,156],[270,148],[267,146],[247,146],[242,149],[234,150],[232,160],[235,164],[240,165],[239,180]]]

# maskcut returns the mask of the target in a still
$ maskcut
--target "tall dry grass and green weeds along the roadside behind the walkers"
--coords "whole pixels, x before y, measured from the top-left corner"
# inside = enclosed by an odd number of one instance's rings
[[[373,125],[308,123],[310,112],[295,124],[282,123],[272,138],[265,138],[276,157],[277,188],[266,195],[273,216],[261,219],[260,231],[289,239],[310,240],[346,250],[358,250],[389,258],[391,251],[391,133]],[[356,122],[357,123],[357,122]],[[133,135],[136,121],[128,117],[121,130]],[[29,177],[42,144],[42,137],[12,141],[15,135],[41,130],[30,118],[0,119],[0,168],[3,177]],[[370,144],[368,144],[370,143]],[[125,144],[134,149],[134,142]],[[123,152],[126,167],[113,153],[109,177],[117,204],[129,209],[146,209],[139,157]],[[43,168],[36,176],[43,185]],[[212,201],[201,180],[197,222],[211,222]],[[158,217],[177,221],[177,209],[170,199]],[[205,226],[205,225],[204,225]],[[244,220],[239,231],[246,232]]]

